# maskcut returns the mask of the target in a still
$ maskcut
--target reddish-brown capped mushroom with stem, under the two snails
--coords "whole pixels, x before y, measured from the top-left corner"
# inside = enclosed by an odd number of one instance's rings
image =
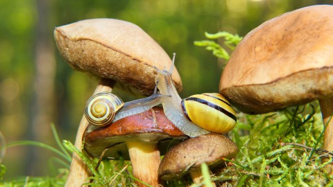
[[[97,130],[90,131],[88,127],[84,148],[92,157],[100,157],[107,149],[104,157],[130,159],[134,177],[158,186],[160,154],[185,139],[187,136],[164,116],[163,109],[154,107]]]

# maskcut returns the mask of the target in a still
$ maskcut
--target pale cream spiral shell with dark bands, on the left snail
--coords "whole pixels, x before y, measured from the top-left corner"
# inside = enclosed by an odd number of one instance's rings
[[[101,92],[87,100],[85,117],[93,125],[109,125],[121,107],[123,107],[123,101],[118,96],[110,92]]]

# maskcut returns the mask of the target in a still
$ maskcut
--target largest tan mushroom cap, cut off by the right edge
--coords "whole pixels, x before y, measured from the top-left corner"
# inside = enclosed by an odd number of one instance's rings
[[[333,94],[333,6],[270,19],[232,53],[220,93],[241,111],[263,114]]]

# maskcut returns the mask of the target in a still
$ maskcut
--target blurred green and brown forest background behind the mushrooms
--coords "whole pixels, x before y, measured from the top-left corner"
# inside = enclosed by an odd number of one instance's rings
[[[185,98],[219,89],[224,62],[193,44],[205,39],[205,31],[244,36],[263,21],[321,3],[332,1],[0,0],[0,131],[9,143],[33,140],[56,146],[50,126],[55,123],[60,139],[74,142],[85,102],[98,82],[73,71],[60,57],[53,40],[56,26],[99,17],[137,24],[168,54],[177,53],[184,86],[180,96]],[[42,148],[8,148],[5,178],[52,175],[51,157]]]

